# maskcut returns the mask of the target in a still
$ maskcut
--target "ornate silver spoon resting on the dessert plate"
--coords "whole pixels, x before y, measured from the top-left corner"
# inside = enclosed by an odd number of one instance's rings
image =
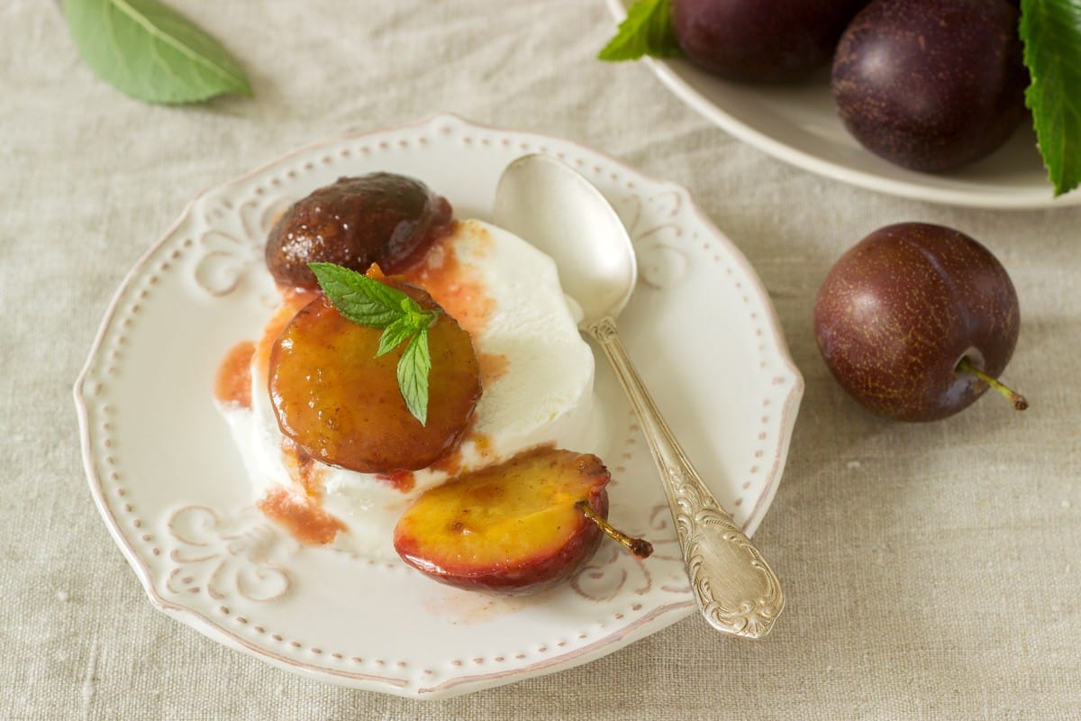
[[[660,417],[616,333],[638,277],[627,229],[589,181],[558,160],[530,155],[499,178],[496,225],[550,255],[579,329],[604,350],[638,415],[679,532],[694,598],[713,628],[747,638],[770,632],[785,605],[780,583],[713,497]]]

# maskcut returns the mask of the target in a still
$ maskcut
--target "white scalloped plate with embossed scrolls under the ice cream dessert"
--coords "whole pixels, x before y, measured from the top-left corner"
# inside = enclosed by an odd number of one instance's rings
[[[605,459],[612,518],[656,553],[639,562],[608,543],[571,583],[524,599],[297,545],[253,508],[214,408],[219,360],[269,317],[262,248],[281,209],[341,175],[386,170],[422,178],[457,217],[483,218],[499,173],[526,152],[577,166],[630,228],[641,283],[624,339],[702,475],[753,532],[803,384],[739,251],[678,186],[568,141],[438,116],[318,143],[203,192],[117,292],[76,404],[94,499],[157,607],[286,670],[423,698],[575,666],[692,612],[664,494],[602,364],[613,444],[578,450]]]

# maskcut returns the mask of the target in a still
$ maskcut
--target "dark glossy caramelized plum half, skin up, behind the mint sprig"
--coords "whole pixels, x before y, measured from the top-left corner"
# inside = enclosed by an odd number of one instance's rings
[[[266,264],[279,285],[319,290],[309,263],[388,273],[408,267],[445,233],[451,205],[403,175],[342,177],[294,203],[270,229]]]

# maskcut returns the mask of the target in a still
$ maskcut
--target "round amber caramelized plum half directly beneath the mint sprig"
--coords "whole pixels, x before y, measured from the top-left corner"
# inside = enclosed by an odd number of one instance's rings
[[[423,290],[389,283],[426,309]],[[429,466],[454,446],[481,395],[469,334],[446,313],[428,329],[431,372],[422,426],[398,387],[406,344],[376,358],[383,331],[346,320],[318,296],[301,309],[270,349],[269,390],[282,433],[312,457],[362,473]]]

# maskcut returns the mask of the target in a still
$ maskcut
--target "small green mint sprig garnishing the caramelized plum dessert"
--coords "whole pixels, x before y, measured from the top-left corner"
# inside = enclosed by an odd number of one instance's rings
[[[383,330],[376,358],[406,344],[398,359],[398,389],[413,417],[422,426],[427,425],[431,372],[428,329],[439,318],[439,311],[425,310],[405,293],[356,270],[333,263],[309,263],[308,267],[346,320]]]

